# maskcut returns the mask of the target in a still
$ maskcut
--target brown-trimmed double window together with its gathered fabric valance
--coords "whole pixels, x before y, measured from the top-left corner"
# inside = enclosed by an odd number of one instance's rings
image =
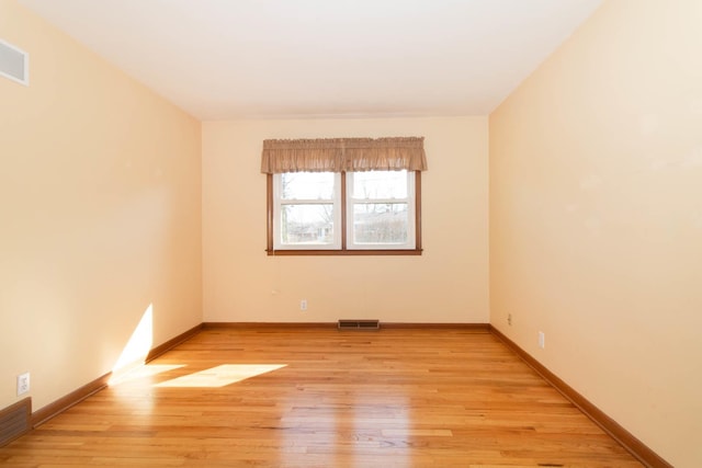
[[[269,255],[421,254],[422,142],[263,141]]]

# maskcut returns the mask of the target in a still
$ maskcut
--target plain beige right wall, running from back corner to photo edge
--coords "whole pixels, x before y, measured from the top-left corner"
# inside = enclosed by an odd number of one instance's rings
[[[492,324],[678,467],[702,466],[700,24],[607,1],[489,119]]]

